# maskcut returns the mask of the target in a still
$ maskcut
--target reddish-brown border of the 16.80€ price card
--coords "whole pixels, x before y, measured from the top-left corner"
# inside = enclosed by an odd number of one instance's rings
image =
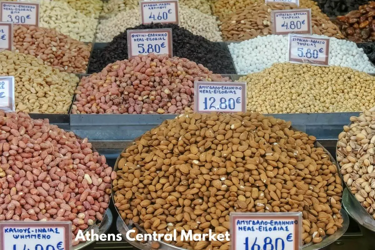
[[[231,213],[229,214],[230,231],[231,231],[231,250],[236,249],[236,221],[237,220],[293,220],[294,221],[294,234],[293,249],[287,250],[300,250],[302,249],[302,212],[293,213]],[[297,223],[296,223],[297,222]],[[246,225],[243,225],[246,226]],[[249,231],[249,235],[257,236],[257,232]],[[276,234],[275,231],[269,234]]]

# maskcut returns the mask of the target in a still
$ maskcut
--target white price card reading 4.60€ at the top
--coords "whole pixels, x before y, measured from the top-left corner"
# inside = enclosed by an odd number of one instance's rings
[[[178,0],[141,1],[141,22],[178,24]]]

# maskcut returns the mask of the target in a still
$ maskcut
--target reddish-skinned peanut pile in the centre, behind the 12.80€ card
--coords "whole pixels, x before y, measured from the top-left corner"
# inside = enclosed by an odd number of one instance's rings
[[[193,109],[194,81],[229,81],[202,64],[141,55],[82,78],[73,114],[181,114]]]

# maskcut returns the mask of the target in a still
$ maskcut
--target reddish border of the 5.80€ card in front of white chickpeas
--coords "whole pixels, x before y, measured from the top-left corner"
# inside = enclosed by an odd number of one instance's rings
[[[324,60],[314,60],[314,58],[299,59],[299,58],[293,57],[292,56],[292,45],[293,45],[292,39],[294,37],[298,37],[300,39],[320,40],[320,41],[325,42],[323,46],[320,46],[320,48],[323,48],[327,53]],[[329,65],[329,53],[330,53],[329,48],[330,48],[330,38],[289,34],[288,36],[288,61],[291,63],[309,63],[311,65],[317,65],[317,66],[328,66]]]

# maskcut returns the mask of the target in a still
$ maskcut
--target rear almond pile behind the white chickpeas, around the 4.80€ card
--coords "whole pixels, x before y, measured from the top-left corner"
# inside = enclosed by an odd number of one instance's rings
[[[240,9],[222,20],[220,30],[224,40],[248,40],[257,36],[272,34],[271,10],[296,9],[291,4],[255,3]],[[312,12],[314,34],[344,38],[338,26],[324,16]]]

